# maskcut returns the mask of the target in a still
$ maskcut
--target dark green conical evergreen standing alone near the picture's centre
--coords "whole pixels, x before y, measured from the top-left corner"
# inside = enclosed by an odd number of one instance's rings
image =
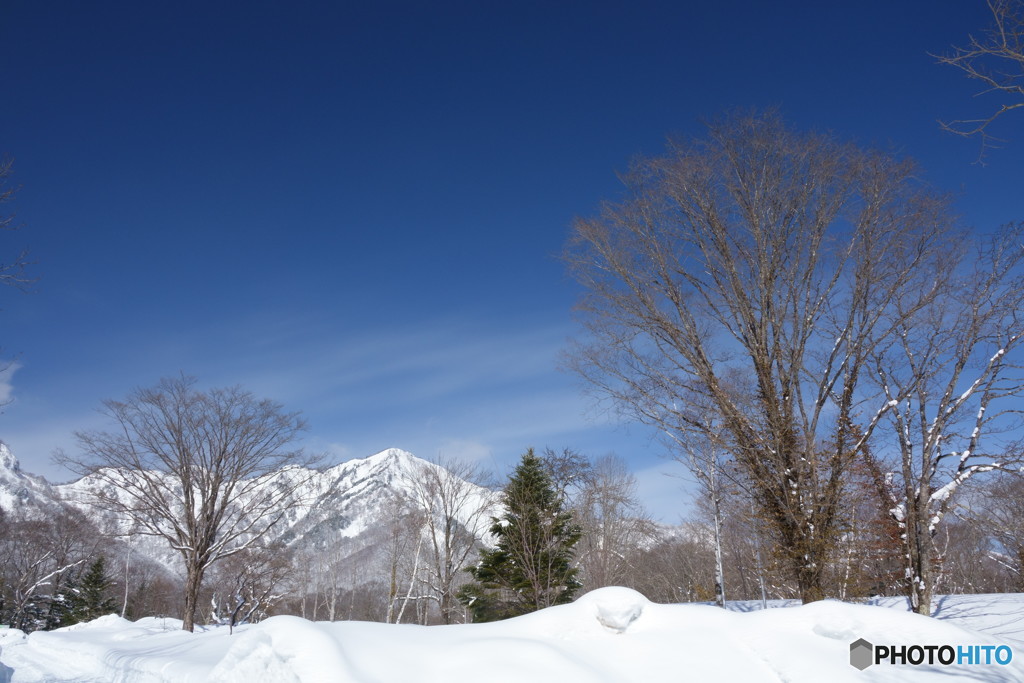
[[[505,486],[505,514],[493,518],[498,540],[467,571],[474,582],[459,599],[474,622],[494,622],[570,602],[580,590],[572,548],[580,528],[563,509],[543,461],[529,449]]]

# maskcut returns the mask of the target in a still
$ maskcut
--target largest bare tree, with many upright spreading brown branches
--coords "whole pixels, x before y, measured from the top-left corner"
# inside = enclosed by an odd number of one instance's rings
[[[913,164],[771,113],[624,181],[567,248],[589,332],[570,365],[628,417],[727,447],[801,597],[824,597],[846,473],[890,408],[862,376],[894,299],[935,296],[946,204]]]

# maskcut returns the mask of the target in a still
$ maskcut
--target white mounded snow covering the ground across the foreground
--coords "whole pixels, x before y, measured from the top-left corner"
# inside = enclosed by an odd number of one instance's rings
[[[741,609],[744,609],[741,607]],[[115,615],[26,637],[0,631],[0,683],[28,681],[1024,680],[1024,595],[948,596],[937,618],[824,601],[780,609],[659,605],[625,588],[495,624],[419,627],[274,616],[188,634],[176,620]],[[1009,664],[850,665],[850,644],[1006,646]],[[950,650],[951,651],[951,650]],[[992,652],[992,649],[988,650]]]

